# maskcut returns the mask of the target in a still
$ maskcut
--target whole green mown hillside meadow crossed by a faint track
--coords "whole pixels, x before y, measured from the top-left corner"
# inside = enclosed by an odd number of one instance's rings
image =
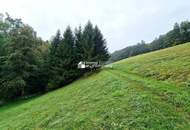
[[[0,107],[0,130],[189,130],[190,43]]]

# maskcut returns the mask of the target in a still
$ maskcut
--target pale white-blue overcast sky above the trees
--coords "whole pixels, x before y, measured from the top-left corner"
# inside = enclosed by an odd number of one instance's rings
[[[88,20],[97,24],[110,52],[152,41],[190,18],[189,0],[0,0],[0,13],[8,12],[31,25],[49,40],[59,28],[73,29]]]

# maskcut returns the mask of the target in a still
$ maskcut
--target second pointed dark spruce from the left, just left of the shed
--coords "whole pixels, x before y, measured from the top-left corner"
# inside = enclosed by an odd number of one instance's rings
[[[56,50],[56,65],[52,68],[53,75],[49,82],[49,89],[68,84],[77,77],[74,40],[72,30],[68,26]]]

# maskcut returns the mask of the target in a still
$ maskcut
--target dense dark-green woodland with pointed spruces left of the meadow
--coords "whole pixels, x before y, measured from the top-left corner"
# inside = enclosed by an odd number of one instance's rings
[[[21,19],[0,14],[0,102],[62,87],[84,73],[79,61],[108,58],[106,41],[91,22],[43,41]]]

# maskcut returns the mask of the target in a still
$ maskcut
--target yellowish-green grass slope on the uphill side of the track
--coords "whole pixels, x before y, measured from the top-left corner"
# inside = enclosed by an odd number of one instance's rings
[[[186,85],[190,81],[190,43],[119,61],[117,69]]]

